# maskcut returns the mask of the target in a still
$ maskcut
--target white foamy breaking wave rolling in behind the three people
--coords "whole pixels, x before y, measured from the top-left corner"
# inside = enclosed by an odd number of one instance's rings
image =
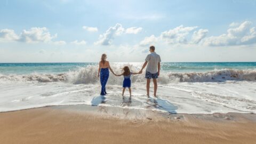
[[[119,67],[114,66],[115,73],[121,73]],[[133,68],[133,71],[139,71],[139,68]],[[133,83],[146,83],[145,71],[142,75],[131,77]],[[0,74],[0,83],[4,82],[67,82],[74,84],[94,84],[99,83],[98,67],[87,66],[78,68],[74,71],[60,74],[27,74],[27,75],[4,75]],[[191,73],[172,73],[161,71],[158,78],[160,84],[174,82],[225,82],[225,81],[256,81],[256,69],[216,69],[206,72]],[[110,74],[108,84],[122,84],[123,78]]]

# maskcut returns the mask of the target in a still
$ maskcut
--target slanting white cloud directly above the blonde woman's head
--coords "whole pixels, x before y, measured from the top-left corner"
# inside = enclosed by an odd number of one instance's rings
[[[124,33],[124,28],[120,23],[116,23],[114,27],[110,27],[104,34],[100,35],[99,41],[94,44],[111,45],[115,36]]]

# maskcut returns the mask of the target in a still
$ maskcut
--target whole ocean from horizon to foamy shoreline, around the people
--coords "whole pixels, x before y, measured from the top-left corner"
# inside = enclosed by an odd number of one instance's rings
[[[141,62],[110,63],[116,74]],[[132,97],[123,77],[110,74],[100,96],[98,63],[0,63],[0,111],[59,105],[151,109],[166,113],[256,113],[256,62],[162,62],[158,98],[146,97],[145,70],[133,75]],[[151,85],[153,86],[153,85]],[[153,87],[150,88],[153,95]]]

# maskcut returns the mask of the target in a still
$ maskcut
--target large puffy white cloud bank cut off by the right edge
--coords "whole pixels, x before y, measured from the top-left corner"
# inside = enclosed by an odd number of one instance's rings
[[[251,21],[244,21],[238,27],[229,28],[226,34],[211,36],[204,44],[210,46],[248,45],[256,43],[256,27]]]

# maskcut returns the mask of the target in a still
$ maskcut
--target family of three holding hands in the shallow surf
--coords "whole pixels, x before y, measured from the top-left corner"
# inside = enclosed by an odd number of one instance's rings
[[[146,68],[146,74],[145,78],[147,79],[147,96],[149,97],[149,87],[150,87],[150,81],[151,78],[153,79],[154,83],[154,97],[156,97],[156,91],[157,91],[157,78],[160,74],[160,62],[161,58],[158,54],[155,52],[155,46],[150,46],[149,47],[150,54],[147,55],[145,62],[141,68],[141,70],[138,73],[132,73],[130,71],[129,67],[125,66],[120,75],[116,75],[114,71],[111,69],[109,61],[107,61],[107,55],[102,54],[101,55],[101,61],[99,62],[99,70],[98,70],[98,77],[100,77],[100,83],[101,83],[101,93],[100,95],[106,95],[106,84],[108,81],[109,77],[109,70],[111,73],[113,73],[115,76],[124,76],[124,81],[123,81],[123,96],[124,96],[124,91],[126,87],[128,87],[130,96],[132,95],[131,91],[131,75],[136,75],[136,74],[142,74],[143,69],[147,66]]]

